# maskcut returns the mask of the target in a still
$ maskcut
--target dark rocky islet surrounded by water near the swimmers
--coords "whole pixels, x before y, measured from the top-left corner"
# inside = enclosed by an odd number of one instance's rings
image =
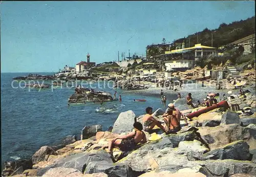
[[[77,90],[76,90],[77,89]],[[88,88],[76,88],[75,93],[72,94],[68,102],[73,103],[85,103],[85,102],[103,102],[112,101],[113,98],[110,93],[103,91],[96,91]]]

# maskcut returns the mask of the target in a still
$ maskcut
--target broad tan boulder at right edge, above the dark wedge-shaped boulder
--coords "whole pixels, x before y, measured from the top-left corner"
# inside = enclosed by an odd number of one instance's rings
[[[239,124],[227,124],[217,127],[202,127],[198,130],[201,138],[210,149],[218,148],[234,141],[244,140],[250,149],[256,148],[256,130],[242,127]]]

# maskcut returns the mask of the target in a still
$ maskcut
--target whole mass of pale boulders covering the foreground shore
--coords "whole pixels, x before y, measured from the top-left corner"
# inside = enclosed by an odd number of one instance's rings
[[[192,111],[183,110],[185,114]],[[158,109],[153,115],[162,120],[163,113]],[[140,122],[143,117],[137,117],[133,111],[122,112],[112,131],[103,132],[99,125],[84,128],[82,137],[88,139],[82,138],[58,150],[43,146],[29,161],[30,169],[26,167],[27,170],[23,168],[13,174],[69,177],[255,175],[256,124],[242,127],[239,115],[230,110],[215,109],[205,117],[214,120],[216,114],[221,122],[215,127],[207,124],[184,127],[181,122],[182,129],[170,135],[155,127],[155,133],[145,132],[147,143],[139,144],[130,152],[114,148],[114,157],[111,157],[104,149],[108,141],[118,134],[131,132],[134,121]]]

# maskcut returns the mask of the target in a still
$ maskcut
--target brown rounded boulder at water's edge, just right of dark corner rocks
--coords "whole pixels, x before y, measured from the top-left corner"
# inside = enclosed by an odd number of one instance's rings
[[[42,146],[32,156],[33,164],[37,164],[40,161],[47,161],[50,155],[57,155],[56,151],[49,146]]]

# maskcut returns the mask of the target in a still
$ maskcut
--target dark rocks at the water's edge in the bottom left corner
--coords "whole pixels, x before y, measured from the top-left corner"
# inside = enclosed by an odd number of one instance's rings
[[[5,168],[2,171],[2,176],[22,174],[24,170],[31,169],[33,166],[32,159],[16,160],[13,162],[5,162]]]

